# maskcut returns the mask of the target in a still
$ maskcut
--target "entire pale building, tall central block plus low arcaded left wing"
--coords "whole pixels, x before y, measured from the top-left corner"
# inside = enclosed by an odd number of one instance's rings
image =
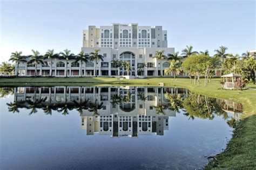
[[[117,69],[111,65],[111,60],[119,59],[131,65],[130,76],[147,77],[164,75],[164,69],[170,64],[167,60],[159,62],[156,51],[163,50],[164,55],[174,53],[173,47],[167,47],[167,31],[162,26],[139,26],[138,24],[118,24],[111,26],[89,26],[83,30],[83,47],[89,55],[95,49],[104,56],[103,61],[75,62],[75,59],[64,60],[54,58],[50,67],[50,60],[44,59],[45,65],[37,65],[37,76],[78,77],[78,76],[126,76],[125,69]],[[27,58],[29,61],[29,58]],[[143,72],[138,67],[145,63]],[[19,63],[19,76],[35,76],[35,64]],[[51,72],[51,73],[50,73]],[[181,76],[185,74],[181,73]]]

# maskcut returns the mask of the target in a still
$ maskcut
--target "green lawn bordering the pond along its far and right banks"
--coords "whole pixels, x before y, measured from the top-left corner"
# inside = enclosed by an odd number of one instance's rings
[[[204,94],[210,97],[229,99],[243,105],[245,112],[242,120],[233,133],[233,138],[228,143],[226,150],[215,157],[205,168],[206,169],[241,169],[256,168],[256,89],[247,90],[223,90],[219,78],[212,79],[207,87],[204,80],[200,86],[190,84],[188,78],[161,78],[153,77],[146,79],[124,79],[107,77],[83,77],[83,78],[0,78],[0,86],[165,86],[185,87],[193,92]],[[248,87],[256,88],[252,83]]]

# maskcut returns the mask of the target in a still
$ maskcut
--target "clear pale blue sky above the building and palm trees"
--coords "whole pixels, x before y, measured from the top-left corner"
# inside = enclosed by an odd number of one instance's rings
[[[0,62],[11,52],[43,55],[82,47],[88,25],[138,23],[163,26],[168,47],[175,51],[192,45],[214,55],[219,46],[236,54],[256,49],[255,9],[252,1],[3,1],[0,0]]]

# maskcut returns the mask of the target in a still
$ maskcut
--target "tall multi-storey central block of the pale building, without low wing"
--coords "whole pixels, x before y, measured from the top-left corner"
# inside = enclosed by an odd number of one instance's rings
[[[144,75],[141,76],[159,76],[169,67],[167,60],[164,60],[160,66],[159,61],[153,56],[156,51],[163,50],[164,55],[174,53],[173,47],[167,47],[167,31],[162,26],[139,26],[138,24],[119,24],[114,23],[111,26],[89,26],[88,30],[83,31],[82,50],[89,54],[94,49],[99,49],[100,54],[104,56],[104,61],[93,63],[96,66],[99,76],[116,76],[116,71],[111,67],[112,59],[119,59],[130,62],[132,67],[131,75],[138,76],[138,66],[146,63]],[[92,68],[93,68],[92,67]],[[86,75],[92,76],[93,69],[86,69]],[[118,69],[118,75],[122,70]],[[127,75],[124,71],[124,75]]]

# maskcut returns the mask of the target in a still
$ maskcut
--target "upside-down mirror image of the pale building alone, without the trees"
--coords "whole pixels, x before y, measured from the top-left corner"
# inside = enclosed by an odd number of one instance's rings
[[[16,102],[42,100],[40,105],[47,107],[87,105],[80,112],[82,129],[87,135],[98,133],[113,138],[164,135],[164,130],[169,130],[169,117],[176,116],[167,107],[170,101],[164,94],[188,95],[186,89],[134,86],[17,87],[14,91]],[[166,106],[162,113],[157,112],[158,105]]]

